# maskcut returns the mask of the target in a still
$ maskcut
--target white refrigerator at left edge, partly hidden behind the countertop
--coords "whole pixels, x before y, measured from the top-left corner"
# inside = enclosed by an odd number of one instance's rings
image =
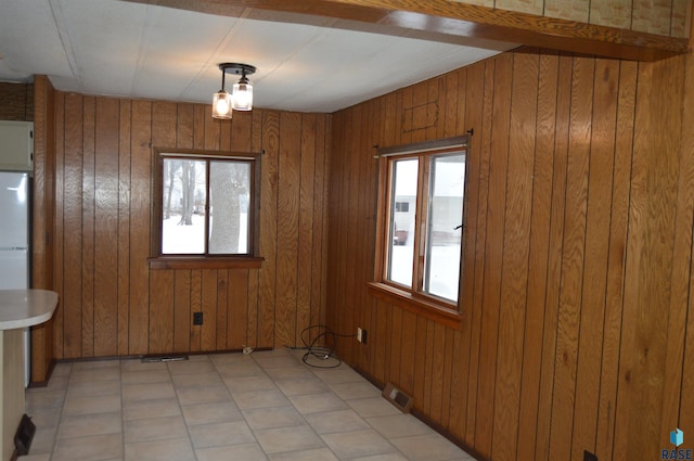
[[[30,178],[0,171],[0,290],[30,286]],[[24,331],[25,386],[30,377],[29,330]]]

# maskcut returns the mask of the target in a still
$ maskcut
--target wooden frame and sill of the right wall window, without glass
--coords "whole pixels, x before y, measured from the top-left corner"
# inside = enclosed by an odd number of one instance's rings
[[[461,235],[461,269],[458,281],[458,300],[451,302],[426,292],[423,292],[423,278],[425,265],[425,239],[426,223],[428,216],[428,202],[430,199],[429,190],[429,165],[430,158],[447,153],[460,153],[465,155],[465,183],[463,191],[463,209],[462,209],[462,235]],[[372,296],[388,303],[395,304],[401,308],[423,315],[437,322],[460,329],[462,328],[462,283],[463,283],[463,255],[465,240],[465,216],[467,203],[468,178],[468,155],[470,155],[470,137],[461,136],[447,138],[435,141],[425,141],[420,143],[382,148],[378,149],[378,203],[376,219],[376,252],[374,264],[374,281],[369,283],[369,292]],[[404,286],[388,280],[388,258],[389,258],[389,235],[393,228],[390,204],[395,206],[393,197],[393,175],[391,169],[394,162],[403,158],[419,158],[417,168],[417,193],[415,202],[415,222],[414,222],[414,256],[413,256],[413,273],[412,286]],[[422,167],[425,170],[422,170]],[[424,179],[424,180],[422,180]],[[424,194],[423,194],[424,193]]]

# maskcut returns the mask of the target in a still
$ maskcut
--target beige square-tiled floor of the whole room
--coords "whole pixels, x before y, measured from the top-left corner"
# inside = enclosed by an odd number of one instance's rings
[[[296,350],[59,363],[18,461],[468,461],[346,364]]]

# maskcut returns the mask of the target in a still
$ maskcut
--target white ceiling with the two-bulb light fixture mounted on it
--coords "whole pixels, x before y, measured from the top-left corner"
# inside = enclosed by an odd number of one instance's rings
[[[258,68],[255,106],[331,113],[513,47],[253,9],[229,17],[120,0],[0,0],[0,81],[47,75],[86,94],[209,103],[217,65],[239,62]]]

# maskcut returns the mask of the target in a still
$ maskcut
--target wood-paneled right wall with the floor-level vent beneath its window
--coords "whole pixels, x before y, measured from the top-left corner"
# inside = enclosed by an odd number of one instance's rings
[[[481,457],[659,459],[694,431],[693,81],[519,50],[333,114],[327,320],[369,332],[339,355]],[[368,295],[373,146],[468,129],[458,331]]]

